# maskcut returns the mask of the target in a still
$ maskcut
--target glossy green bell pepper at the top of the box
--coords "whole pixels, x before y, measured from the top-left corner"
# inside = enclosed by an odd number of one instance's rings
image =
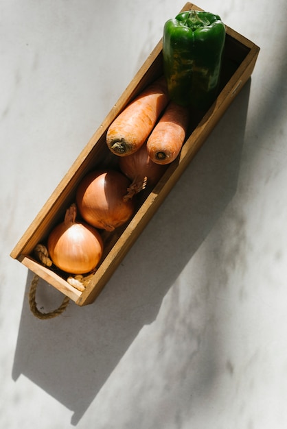
[[[163,71],[170,99],[205,110],[217,95],[225,25],[220,16],[189,10],[163,29]]]

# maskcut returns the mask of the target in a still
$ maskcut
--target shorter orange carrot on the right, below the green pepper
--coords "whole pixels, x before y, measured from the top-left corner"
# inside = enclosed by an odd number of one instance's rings
[[[171,101],[150,134],[146,147],[156,164],[170,164],[179,155],[189,120],[187,108]]]

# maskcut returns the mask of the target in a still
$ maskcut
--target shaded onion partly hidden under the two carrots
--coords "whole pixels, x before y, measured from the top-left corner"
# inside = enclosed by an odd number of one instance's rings
[[[157,184],[167,166],[156,164],[150,159],[145,143],[135,153],[119,158],[119,168],[132,181],[124,197],[129,199],[146,186]]]

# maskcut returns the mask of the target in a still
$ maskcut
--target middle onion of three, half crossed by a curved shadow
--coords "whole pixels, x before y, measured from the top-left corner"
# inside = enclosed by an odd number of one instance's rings
[[[135,203],[124,201],[130,180],[120,171],[92,171],[80,182],[76,201],[84,221],[106,231],[113,231],[132,217]]]

